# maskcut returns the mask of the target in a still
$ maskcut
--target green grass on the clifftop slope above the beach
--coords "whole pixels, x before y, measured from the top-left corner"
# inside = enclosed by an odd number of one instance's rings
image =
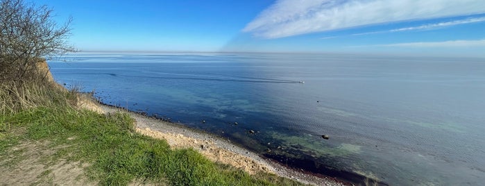
[[[12,146],[24,141],[56,149],[45,158],[46,164],[60,159],[89,164],[87,176],[100,185],[135,180],[162,185],[298,185],[271,174],[250,176],[193,149],[170,149],[164,140],[135,133],[133,119],[121,113],[100,115],[61,105],[0,115],[0,156],[13,153]]]

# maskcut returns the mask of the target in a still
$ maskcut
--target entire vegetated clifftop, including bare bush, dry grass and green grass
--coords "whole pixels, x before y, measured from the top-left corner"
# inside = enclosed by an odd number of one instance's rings
[[[171,149],[136,133],[127,114],[80,108],[80,93],[56,84],[42,59],[73,51],[70,21],[58,26],[51,12],[0,1],[2,185],[300,185],[211,162],[194,149]]]

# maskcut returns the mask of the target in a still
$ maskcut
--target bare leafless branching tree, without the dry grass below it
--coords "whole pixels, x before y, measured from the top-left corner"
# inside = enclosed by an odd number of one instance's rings
[[[74,48],[69,17],[65,24],[53,21],[53,10],[23,0],[0,0],[0,81],[31,81],[37,62],[51,59]]]

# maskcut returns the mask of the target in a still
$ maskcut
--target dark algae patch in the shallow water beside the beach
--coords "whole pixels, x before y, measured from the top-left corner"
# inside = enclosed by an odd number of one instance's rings
[[[246,144],[253,151],[261,153],[266,158],[276,160],[286,167],[303,169],[312,174],[337,178],[354,185],[388,185],[388,183],[373,176],[372,173],[361,171],[362,173],[359,174],[355,172],[355,167],[348,169],[337,168],[345,167],[341,163],[342,158],[348,158],[355,153],[360,153],[360,146],[357,145],[339,144],[338,146],[325,146],[322,144],[324,139],[321,137],[286,135],[276,132],[267,132],[250,137],[244,137],[244,135],[236,136],[241,139],[238,141],[241,144]],[[249,145],[255,144],[254,137],[259,137],[259,140],[268,143],[265,145]]]

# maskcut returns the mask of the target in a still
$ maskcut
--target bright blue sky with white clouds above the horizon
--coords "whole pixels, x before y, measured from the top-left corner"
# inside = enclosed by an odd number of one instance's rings
[[[28,0],[26,0],[28,2]],[[484,0],[35,0],[80,51],[485,57]]]

